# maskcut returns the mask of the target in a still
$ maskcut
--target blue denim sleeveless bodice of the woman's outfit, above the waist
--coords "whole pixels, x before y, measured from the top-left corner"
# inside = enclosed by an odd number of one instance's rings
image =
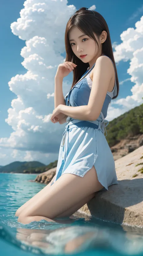
[[[87,79],[86,79],[85,76],[87,75],[87,73],[89,75],[89,73],[94,68],[94,66],[95,66],[95,64],[91,67],[90,70],[87,70],[84,73],[84,75],[81,77],[81,79],[78,81],[78,83],[76,83],[74,85],[74,87],[72,87],[72,89],[65,96],[65,104],[67,106],[76,107],[76,106],[88,105],[88,101],[89,101],[89,97],[90,97],[90,93],[91,93],[91,88],[88,86]],[[114,67],[114,70],[115,70],[115,67]],[[104,122],[104,124],[107,123],[106,125],[108,125],[109,122],[107,120],[104,120],[104,119],[107,116],[107,110],[108,110],[108,106],[111,102],[111,99],[114,96],[116,96],[116,93],[117,93],[117,88],[116,88],[116,76],[115,76],[115,84],[114,84],[113,91],[112,92],[107,92],[104,103],[103,103],[102,110],[100,112],[99,117],[96,120]],[[68,123],[72,120],[74,120],[74,118],[71,118],[71,117],[68,116],[66,121]],[[89,121],[89,122],[96,123],[96,120],[95,121]]]

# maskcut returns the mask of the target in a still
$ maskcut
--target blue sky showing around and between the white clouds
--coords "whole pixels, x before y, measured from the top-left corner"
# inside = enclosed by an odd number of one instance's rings
[[[43,0],[43,2],[45,1]],[[24,58],[20,55],[21,49],[25,46],[25,40],[19,39],[18,36],[14,35],[11,32],[10,28],[11,23],[17,21],[17,19],[20,18],[20,10],[24,8],[23,4],[23,0],[1,0],[0,138],[9,138],[11,133],[14,131],[11,125],[8,125],[5,122],[5,118],[8,118],[8,108],[11,108],[11,101],[13,99],[17,99],[17,95],[9,89],[8,82],[11,80],[11,77],[15,77],[17,74],[24,75],[24,73],[27,72],[27,69],[25,69],[21,65],[21,62],[24,61]],[[89,8],[92,5],[96,5],[96,11],[103,15],[104,19],[108,24],[112,44],[116,43],[117,45],[120,45],[122,43],[120,39],[120,35],[122,34],[122,32],[126,31],[128,28],[135,29],[135,22],[139,21],[143,14],[143,5],[141,0],[132,1],[132,4],[129,0],[89,0],[88,2],[84,0],[70,0],[68,1],[67,5],[75,5],[76,9],[80,9],[81,7]],[[65,53],[63,54],[63,56],[65,57]],[[122,59],[121,61],[119,61],[119,63],[116,64],[119,83],[131,77],[131,75],[127,73],[127,69],[130,66],[130,61],[131,59],[127,61],[125,61],[125,59]],[[72,77],[69,81],[72,82]],[[121,83],[118,100],[126,98],[127,96],[131,96],[131,88],[133,87],[133,85],[134,84],[130,80]],[[116,105],[114,106],[114,108],[122,109],[123,106]]]

